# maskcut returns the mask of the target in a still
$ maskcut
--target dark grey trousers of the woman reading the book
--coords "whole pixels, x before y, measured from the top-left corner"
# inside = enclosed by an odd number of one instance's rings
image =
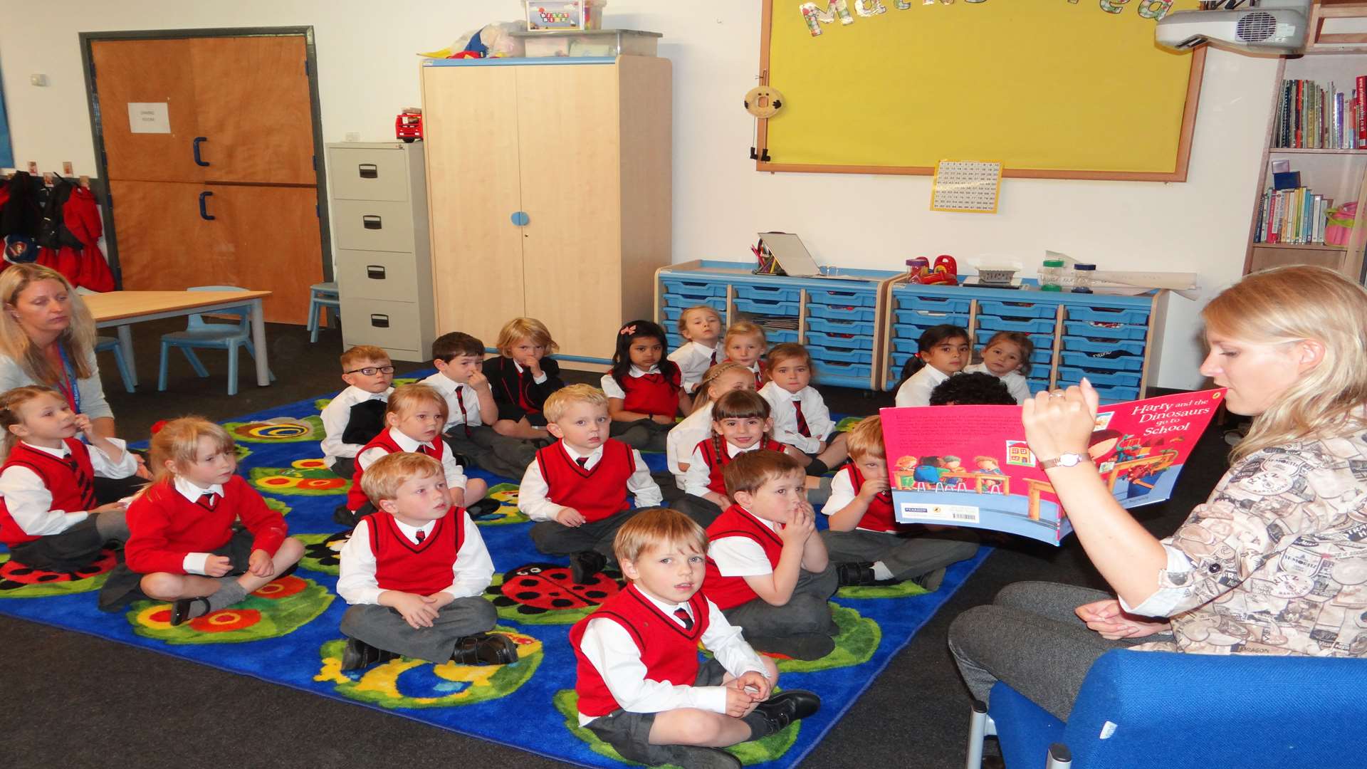
[[[1001,680],[1066,720],[1098,657],[1111,649],[1172,639],[1107,640],[1073,613],[1083,603],[1107,598],[1114,595],[1051,582],[1017,582],[1003,587],[991,605],[964,612],[949,627],[949,650],[968,691],[987,702],[987,692]]]

